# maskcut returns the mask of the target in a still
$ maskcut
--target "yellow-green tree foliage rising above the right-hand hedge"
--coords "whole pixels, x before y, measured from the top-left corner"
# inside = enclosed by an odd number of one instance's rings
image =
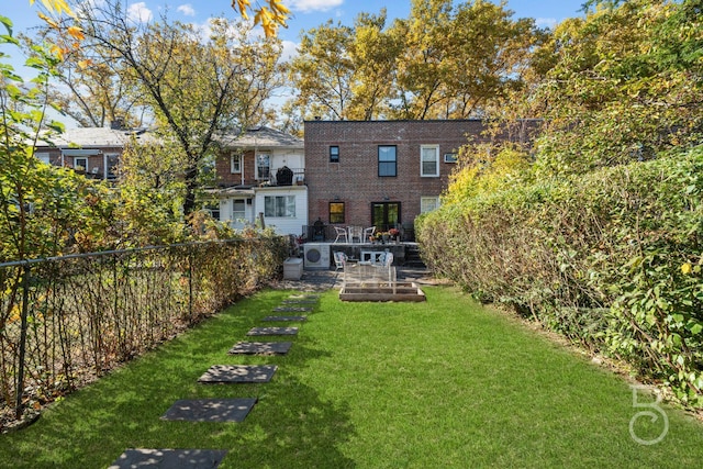
[[[561,23],[543,47],[553,66],[522,100],[545,119],[547,174],[645,160],[703,137],[699,1],[599,4]]]

